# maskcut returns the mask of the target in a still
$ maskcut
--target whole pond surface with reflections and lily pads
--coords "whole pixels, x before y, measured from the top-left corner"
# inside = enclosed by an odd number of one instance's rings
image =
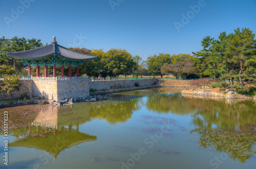
[[[180,92],[155,88],[60,108],[2,108],[8,168],[256,168],[256,103]]]

